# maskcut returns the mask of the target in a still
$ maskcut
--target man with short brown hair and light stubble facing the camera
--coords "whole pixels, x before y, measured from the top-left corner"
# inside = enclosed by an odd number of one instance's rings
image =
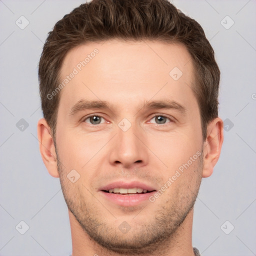
[[[193,205],[223,141],[219,69],[201,26],[167,0],[92,0],[39,62],[48,172],[72,255],[199,255]]]

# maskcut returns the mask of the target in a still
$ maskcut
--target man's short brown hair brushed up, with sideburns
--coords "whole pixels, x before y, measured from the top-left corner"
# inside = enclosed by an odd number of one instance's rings
[[[56,22],[39,61],[38,77],[43,116],[53,139],[60,93],[49,95],[60,83],[67,51],[86,42],[108,39],[157,40],[185,45],[196,70],[192,90],[197,99],[203,140],[207,124],[218,116],[220,71],[202,27],[167,0],[92,0]]]

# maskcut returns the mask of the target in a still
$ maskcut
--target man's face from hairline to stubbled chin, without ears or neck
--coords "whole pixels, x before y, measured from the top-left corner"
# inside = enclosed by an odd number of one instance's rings
[[[150,251],[193,206],[203,141],[189,60],[184,46],[153,41],[88,43],[65,56],[60,183],[80,226],[108,249]]]

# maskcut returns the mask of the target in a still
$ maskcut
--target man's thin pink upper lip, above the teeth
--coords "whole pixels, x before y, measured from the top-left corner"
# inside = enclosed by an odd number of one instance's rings
[[[109,189],[113,189],[115,187],[122,187],[122,188],[133,188],[133,187],[139,187],[142,189],[146,189],[147,191],[152,191],[152,190],[156,190],[153,186],[145,184],[141,181],[124,181],[124,180],[119,180],[119,181],[114,181],[111,182],[107,185],[104,185],[102,187],[100,187],[98,190],[109,190]]]

